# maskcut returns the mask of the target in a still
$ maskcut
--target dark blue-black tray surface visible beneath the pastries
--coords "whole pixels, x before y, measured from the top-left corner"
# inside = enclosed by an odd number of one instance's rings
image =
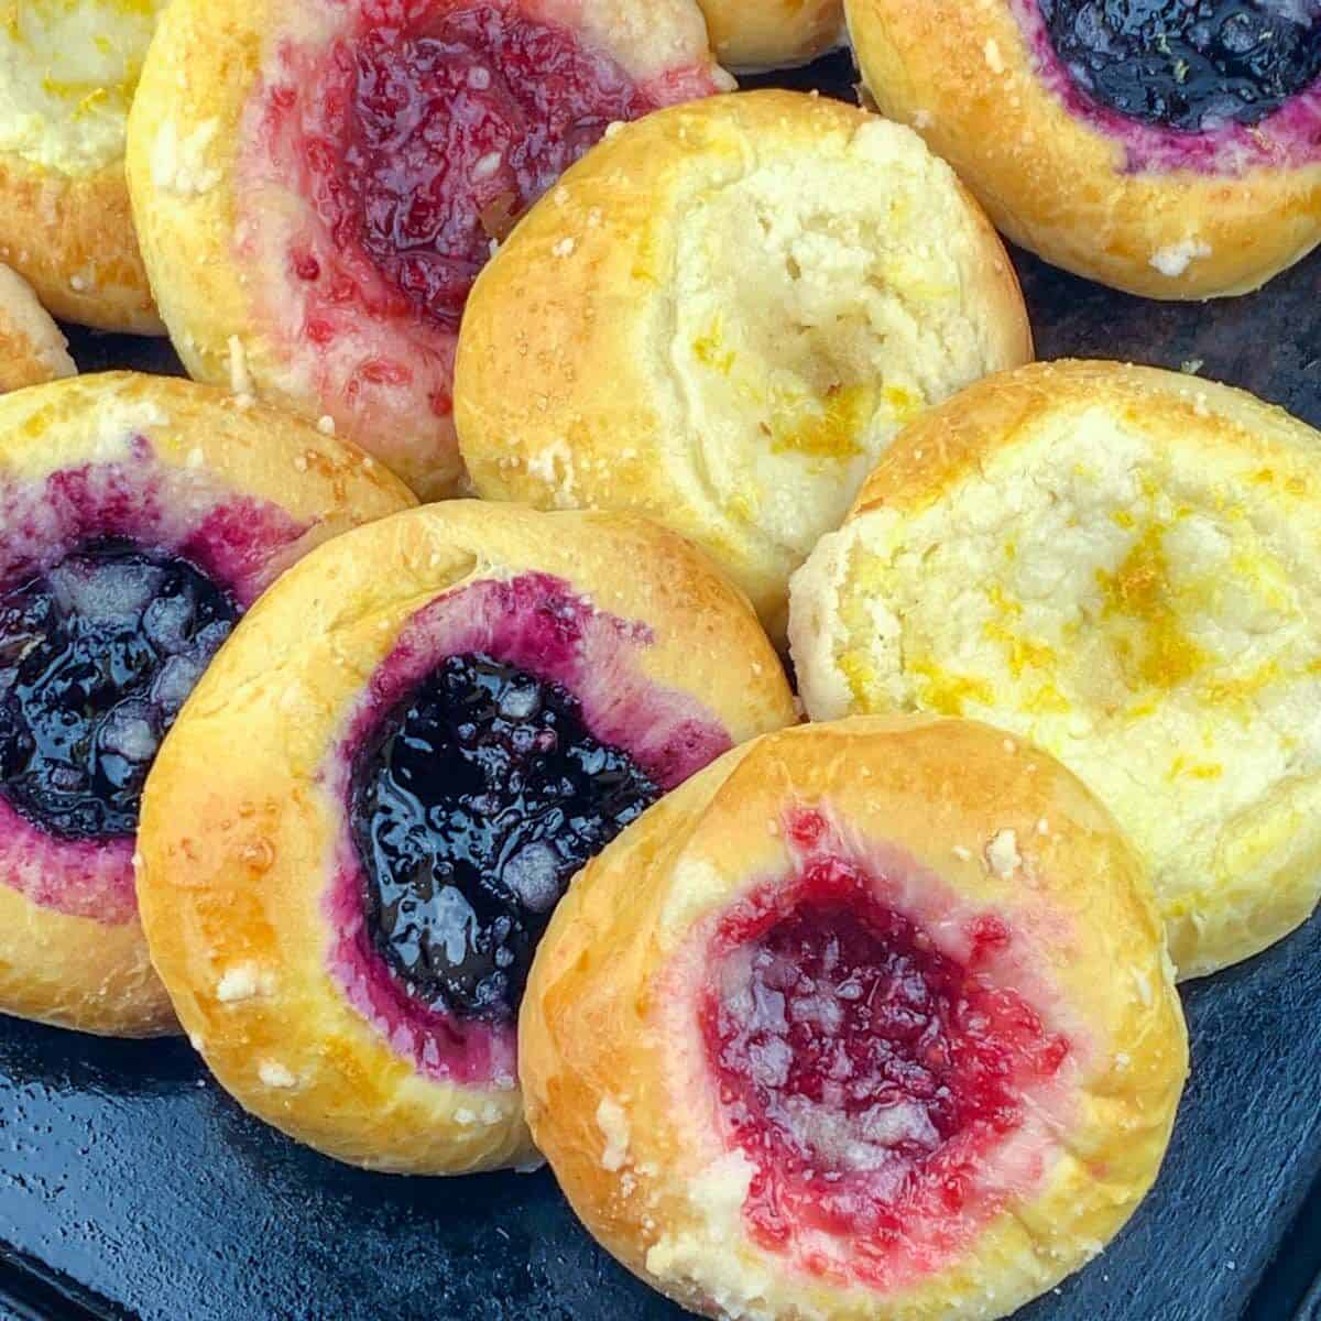
[[[844,58],[799,86],[843,89]],[[1321,254],[1161,305],[1017,255],[1041,357],[1244,386],[1321,425]],[[178,370],[79,334],[85,370]],[[1186,988],[1194,1074],[1156,1192],[1022,1321],[1321,1321],[1321,918]],[[180,1041],[0,1018],[0,1321],[675,1321],[547,1172],[365,1174],[244,1115]]]

